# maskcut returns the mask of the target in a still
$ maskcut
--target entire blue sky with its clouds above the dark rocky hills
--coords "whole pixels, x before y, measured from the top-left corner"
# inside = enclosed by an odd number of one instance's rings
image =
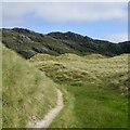
[[[2,2],[2,27],[37,32],[74,31],[94,39],[128,40],[127,2]]]

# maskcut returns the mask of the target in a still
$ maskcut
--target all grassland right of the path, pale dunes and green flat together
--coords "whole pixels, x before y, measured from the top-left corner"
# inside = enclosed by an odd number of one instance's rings
[[[64,93],[65,107],[51,127],[128,127],[128,54],[38,54],[30,62],[60,83]]]

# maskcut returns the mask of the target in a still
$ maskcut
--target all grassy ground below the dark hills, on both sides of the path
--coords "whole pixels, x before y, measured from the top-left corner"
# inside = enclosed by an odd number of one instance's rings
[[[37,120],[35,127],[43,127],[44,116],[58,104],[57,89],[64,107],[47,127],[128,128],[129,54],[36,54],[24,60],[2,50],[3,128],[24,128]]]

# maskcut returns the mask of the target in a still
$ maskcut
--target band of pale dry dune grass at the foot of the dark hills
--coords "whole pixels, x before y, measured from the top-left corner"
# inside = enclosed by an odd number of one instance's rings
[[[120,73],[127,74],[128,72],[128,54],[115,57],[105,57],[100,54],[91,54],[87,56],[78,56],[69,53],[60,56],[38,54],[30,61],[35,62],[35,65],[38,68],[50,68],[52,70],[51,73],[53,73],[53,70],[55,73],[55,66],[57,72],[62,72],[63,68],[61,68],[61,66],[63,66],[64,69],[68,72],[84,72],[95,79]]]

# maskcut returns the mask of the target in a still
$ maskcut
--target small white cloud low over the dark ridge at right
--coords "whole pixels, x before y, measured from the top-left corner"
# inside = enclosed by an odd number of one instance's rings
[[[112,34],[104,37],[104,39],[105,40],[108,39],[112,42],[122,42],[128,40],[128,34],[127,32]]]

